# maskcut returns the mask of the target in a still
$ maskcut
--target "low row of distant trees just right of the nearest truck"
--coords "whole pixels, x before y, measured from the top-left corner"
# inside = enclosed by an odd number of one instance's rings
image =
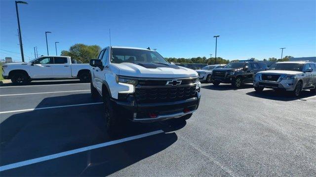
[[[197,58],[165,58],[168,62],[172,63],[200,63],[200,64],[215,64],[215,58],[197,57]],[[216,58],[216,64],[228,64],[229,60],[224,60],[221,57]]]

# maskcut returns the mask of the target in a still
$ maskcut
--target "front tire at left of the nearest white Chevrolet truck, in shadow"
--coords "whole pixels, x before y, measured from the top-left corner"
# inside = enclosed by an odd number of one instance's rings
[[[116,105],[110,99],[109,94],[103,95],[103,117],[105,119],[106,129],[109,135],[114,136],[119,132],[118,125],[122,123]]]

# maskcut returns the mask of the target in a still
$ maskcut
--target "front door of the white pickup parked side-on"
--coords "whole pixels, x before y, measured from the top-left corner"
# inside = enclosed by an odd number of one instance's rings
[[[53,57],[41,57],[30,66],[31,78],[51,78],[51,66],[54,63]]]

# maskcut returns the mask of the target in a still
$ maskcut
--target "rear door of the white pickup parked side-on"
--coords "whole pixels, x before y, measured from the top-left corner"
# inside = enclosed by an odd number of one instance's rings
[[[71,77],[71,65],[67,57],[54,57],[51,69],[54,77]]]

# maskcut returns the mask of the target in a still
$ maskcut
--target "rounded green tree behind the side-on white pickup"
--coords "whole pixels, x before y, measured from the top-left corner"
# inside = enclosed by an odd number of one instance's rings
[[[98,45],[75,44],[69,51],[61,51],[62,56],[70,56],[73,60],[80,60],[82,63],[89,63],[90,59],[95,59],[101,51]]]

